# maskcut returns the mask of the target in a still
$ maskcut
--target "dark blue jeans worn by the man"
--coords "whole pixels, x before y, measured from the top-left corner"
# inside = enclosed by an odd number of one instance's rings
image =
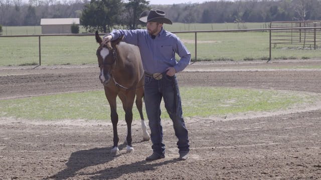
[[[161,101],[164,98],[165,107],[169,113],[178,138],[179,152],[190,150],[188,130],[185,127],[183,118],[180,91],[176,75],[163,75],[163,78],[156,80],[153,77],[145,76],[145,107],[150,128],[151,148],[159,155],[165,154],[165,144],[163,143],[163,127],[161,123]]]

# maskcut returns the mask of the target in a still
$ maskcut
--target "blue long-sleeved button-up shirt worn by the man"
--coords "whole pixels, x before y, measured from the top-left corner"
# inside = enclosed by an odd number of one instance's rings
[[[191,61],[191,53],[180,38],[164,28],[154,39],[147,29],[114,29],[109,34],[112,40],[124,35],[123,41],[137,45],[144,70],[148,73],[164,72],[168,67],[174,67],[179,72]],[[175,59],[175,53],[181,57],[179,61]]]

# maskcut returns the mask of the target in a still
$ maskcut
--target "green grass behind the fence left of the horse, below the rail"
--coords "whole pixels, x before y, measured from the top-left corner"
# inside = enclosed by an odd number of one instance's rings
[[[97,63],[91,36],[42,36],[41,64]],[[0,37],[0,65],[39,63],[38,37]]]

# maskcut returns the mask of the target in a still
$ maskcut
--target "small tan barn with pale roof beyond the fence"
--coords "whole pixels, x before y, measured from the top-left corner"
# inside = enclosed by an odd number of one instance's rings
[[[71,25],[79,24],[79,18],[42,18],[41,33],[71,33]]]

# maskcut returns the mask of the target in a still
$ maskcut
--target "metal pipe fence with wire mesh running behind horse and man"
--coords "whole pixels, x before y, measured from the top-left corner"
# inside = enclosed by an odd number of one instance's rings
[[[280,30],[312,30],[309,37],[316,48],[300,48],[296,38]],[[230,30],[174,31],[192,52],[192,61],[199,60],[271,60],[286,58],[319,58],[321,27],[260,28]],[[103,35],[102,33],[100,35]],[[293,35],[293,36],[291,36]],[[278,43],[276,47],[274,44]],[[0,36],[0,65],[88,64],[96,63],[94,34],[39,34]],[[179,57],[177,57],[179,58]]]

